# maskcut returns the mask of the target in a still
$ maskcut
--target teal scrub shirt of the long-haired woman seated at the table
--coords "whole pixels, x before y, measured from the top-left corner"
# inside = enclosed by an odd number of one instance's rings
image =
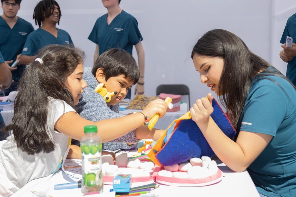
[[[247,170],[259,193],[296,196],[296,91],[284,78],[267,78],[254,77],[239,127],[273,138]]]

